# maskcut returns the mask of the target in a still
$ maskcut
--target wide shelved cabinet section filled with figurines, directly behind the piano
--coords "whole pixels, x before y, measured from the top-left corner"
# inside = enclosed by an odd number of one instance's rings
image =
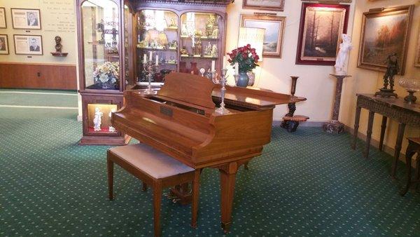
[[[170,72],[210,77],[220,72],[225,53],[225,1],[131,1],[136,11],[137,83],[146,85],[145,62],[155,66],[153,82]],[[202,69],[202,72],[200,72]]]

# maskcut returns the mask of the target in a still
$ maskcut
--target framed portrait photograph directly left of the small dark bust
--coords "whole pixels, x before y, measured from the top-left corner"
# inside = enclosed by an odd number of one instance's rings
[[[14,34],[17,55],[43,55],[42,36]]]

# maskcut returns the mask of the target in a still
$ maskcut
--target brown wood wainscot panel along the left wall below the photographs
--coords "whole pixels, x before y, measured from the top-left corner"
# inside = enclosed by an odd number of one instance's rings
[[[0,88],[77,90],[76,65],[0,62]]]

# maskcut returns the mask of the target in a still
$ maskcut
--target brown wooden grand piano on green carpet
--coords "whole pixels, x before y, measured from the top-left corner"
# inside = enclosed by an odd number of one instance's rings
[[[235,176],[270,142],[276,104],[306,100],[265,90],[227,87],[230,114],[216,114],[220,86],[202,76],[172,73],[156,95],[126,90],[125,106],[112,114],[115,128],[193,168],[221,174],[221,224],[229,231]],[[198,176],[198,175],[197,175]]]

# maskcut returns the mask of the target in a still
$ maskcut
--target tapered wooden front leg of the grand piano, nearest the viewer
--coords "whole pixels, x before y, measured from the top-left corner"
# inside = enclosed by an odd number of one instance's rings
[[[237,163],[232,162],[219,169],[221,174],[221,226],[225,233],[230,230],[232,224],[232,205],[235,193],[235,177]]]

